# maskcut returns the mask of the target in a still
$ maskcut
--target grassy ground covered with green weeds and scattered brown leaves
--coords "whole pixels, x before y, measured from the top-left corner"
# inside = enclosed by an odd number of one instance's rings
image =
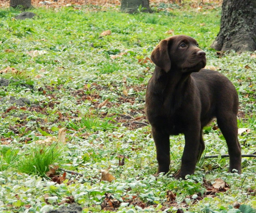
[[[242,154],[256,151],[255,53],[216,52],[221,8],[161,3],[155,13],[101,7],[0,10],[1,212],[253,213],[256,159],[227,173],[213,121],[195,174],[175,180],[184,137],[171,136],[171,171],[157,169],[145,117],[150,53],[173,34],[197,39],[207,66],[237,88]],[[64,209],[65,208],[65,209]],[[57,211],[58,210],[58,211]]]

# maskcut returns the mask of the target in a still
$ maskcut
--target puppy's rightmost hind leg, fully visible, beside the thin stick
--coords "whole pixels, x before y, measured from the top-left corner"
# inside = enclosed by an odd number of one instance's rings
[[[229,172],[236,169],[238,174],[241,174],[241,145],[237,137],[237,115],[233,112],[223,112],[221,116],[217,117],[217,123],[227,142]]]

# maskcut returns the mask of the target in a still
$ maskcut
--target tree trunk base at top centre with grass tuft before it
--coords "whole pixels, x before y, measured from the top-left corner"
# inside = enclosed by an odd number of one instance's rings
[[[126,13],[152,12],[149,7],[149,0],[122,0],[121,11]]]

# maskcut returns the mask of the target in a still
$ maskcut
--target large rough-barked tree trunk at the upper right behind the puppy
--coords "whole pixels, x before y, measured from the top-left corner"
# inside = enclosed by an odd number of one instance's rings
[[[256,1],[223,0],[221,27],[211,45],[216,50],[256,50]]]

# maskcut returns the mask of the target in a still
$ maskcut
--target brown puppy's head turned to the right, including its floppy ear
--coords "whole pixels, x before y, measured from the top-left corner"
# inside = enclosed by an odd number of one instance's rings
[[[161,40],[151,53],[151,60],[165,72],[198,72],[206,65],[205,52],[198,47],[195,39],[186,35]]]

